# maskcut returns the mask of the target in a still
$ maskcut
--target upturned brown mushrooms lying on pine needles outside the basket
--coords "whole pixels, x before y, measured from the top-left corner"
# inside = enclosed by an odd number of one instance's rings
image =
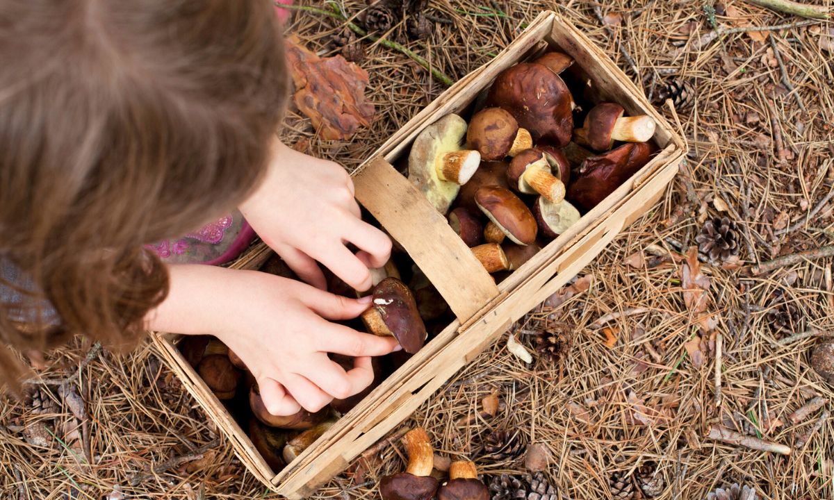
[[[478,479],[475,463],[451,463],[449,481],[442,485],[432,476],[435,453],[423,428],[411,429],[403,438],[409,454],[404,473],[385,476],[379,482],[383,500],[490,500],[490,490]]]

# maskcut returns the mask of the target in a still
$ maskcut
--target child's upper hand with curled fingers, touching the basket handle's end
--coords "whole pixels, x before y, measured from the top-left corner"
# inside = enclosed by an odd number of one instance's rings
[[[344,168],[278,141],[264,182],[240,210],[299,278],[317,288],[326,283],[316,261],[364,291],[371,286],[369,268],[381,268],[390,257],[388,236],[359,218],[354,183]]]

